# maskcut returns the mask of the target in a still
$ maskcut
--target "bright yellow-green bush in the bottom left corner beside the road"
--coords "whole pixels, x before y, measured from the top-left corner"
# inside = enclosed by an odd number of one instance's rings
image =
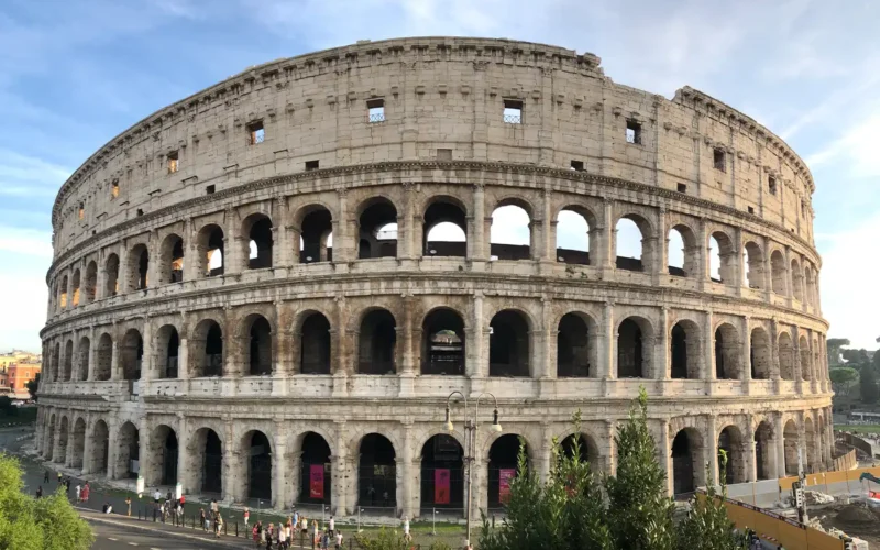
[[[63,492],[36,499],[22,493],[19,461],[0,454],[0,548],[87,550],[95,538]]]

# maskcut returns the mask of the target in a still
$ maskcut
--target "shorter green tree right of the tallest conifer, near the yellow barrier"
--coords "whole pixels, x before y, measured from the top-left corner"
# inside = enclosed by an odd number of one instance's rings
[[[748,538],[743,532],[734,531],[734,522],[727,517],[724,508],[724,498],[727,497],[727,479],[723,472],[727,470],[727,452],[718,450],[718,471],[722,472],[721,495],[714,485],[706,487],[706,494],[697,494],[691,501],[691,512],[675,530],[676,547],[680,550],[691,550],[694,541],[700,541],[700,548],[713,550],[746,550]],[[706,464],[706,479],[712,472]]]

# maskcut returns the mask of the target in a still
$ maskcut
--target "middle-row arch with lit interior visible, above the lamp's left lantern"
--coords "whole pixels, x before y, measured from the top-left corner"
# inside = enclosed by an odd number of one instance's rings
[[[458,311],[439,308],[425,317],[421,374],[464,374],[464,321]]]

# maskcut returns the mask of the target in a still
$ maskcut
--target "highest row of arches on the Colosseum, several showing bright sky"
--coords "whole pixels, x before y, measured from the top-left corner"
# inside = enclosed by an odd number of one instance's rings
[[[397,206],[387,197],[374,197],[363,201],[355,210],[355,237],[353,245],[355,257],[376,258],[397,256],[398,220]],[[522,199],[507,198],[497,202],[490,220],[488,255],[493,260],[536,258],[538,248],[532,232],[534,209]],[[469,253],[469,210],[458,198],[439,196],[431,198],[421,217],[422,256],[460,256]],[[598,218],[586,206],[562,207],[554,218],[552,232],[556,237],[556,261],[566,264],[597,265],[591,258],[602,240]],[[333,258],[333,228],[338,223],[330,209],[320,204],[300,208],[294,216],[287,239],[297,245],[294,250],[299,263],[327,262]],[[657,250],[656,228],[640,213],[623,213],[610,224],[610,240],[607,246],[614,251],[613,265],[618,270],[648,271],[652,268]],[[275,240],[278,228],[272,217],[264,212],[246,216],[238,227],[234,257],[237,270],[257,270],[272,267],[275,257]],[[712,230],[707,242],[701,243],[695,231],[684,221],[673,221],[666,238],[668,242],[667,272],[672,276],[702,276],[726,285],[746,285],[756,289],[770,289],[780,295],[791,295],[795,299],[816,306],[817,271],[806,260],[803,266],[798,257],[785,261],[779,246],[769,251],[756,242],[747,240],[740,248],[726,230]],[[221,275],[226,271],[226,252],[229,237],[218,223],[207,223],[195,233],[191,253],[197,277]],[[289,246],[282,243],[283,246]],[[184,278],[184,262],[187,252],[183,237],[177,233],[165,235],[156,254],[155,272],[151,272],[151,251],[145,243],[138,243],[127,251],[125,272],[120,274],[120,257],[108,254],[103,265],[102,297],[114,296],[119,292],[132,292],[151,285],[151,273],[157,283],[177,283]],[[766,258],[769,261],[766,262]],[[188,258],[186,258],[189,261]],[[702,264],[702,265],[701,265]],[[741,265],[741,278],[737,273]],[[769,278],[768,278],[768,275]],[[120,288],[120,276],[123,278]],[[75,268],[72,278],[64,274],[56,282],[53,297],[57,308],[77,306],[80,300],[94,301],[98,295],[98,265],[90,261],[86,266],[85,278]],[[72,298],[68,300],[68,293]],[[80,296],[80,293],[82,296]],[[69,304],[68,304],[69,301]]]

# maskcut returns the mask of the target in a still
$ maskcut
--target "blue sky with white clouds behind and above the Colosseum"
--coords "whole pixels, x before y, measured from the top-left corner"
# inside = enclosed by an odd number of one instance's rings
[[[690,85],[766,124],[816,182],[831,334],[877,348],[878,23],[873,1],[3,0],[0,350],[40,349],[52,204],[95,150],[250,65],[406,35],[592,52],[617,82],[668,98]]]

